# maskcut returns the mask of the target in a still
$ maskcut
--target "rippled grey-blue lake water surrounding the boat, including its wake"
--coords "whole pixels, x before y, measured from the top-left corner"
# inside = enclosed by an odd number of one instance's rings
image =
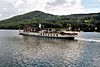
[[[100,33],[75,40],[22,36],[0,30],[0,67],[100,67]]]

